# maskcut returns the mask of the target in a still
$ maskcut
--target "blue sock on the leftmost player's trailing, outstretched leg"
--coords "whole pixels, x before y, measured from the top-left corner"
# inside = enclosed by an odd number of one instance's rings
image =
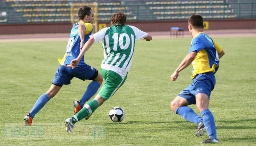
[[[47,96],[46,93],[44,93],[43,95],[41,95],[38,100],[36,101],[34,107],[32,108],[32,110],[29,112],[29,115],[31,118],[34,118],[34,116],[39,112],[39,110],[41,110],[44,105],[50,100],[50,98]]]

